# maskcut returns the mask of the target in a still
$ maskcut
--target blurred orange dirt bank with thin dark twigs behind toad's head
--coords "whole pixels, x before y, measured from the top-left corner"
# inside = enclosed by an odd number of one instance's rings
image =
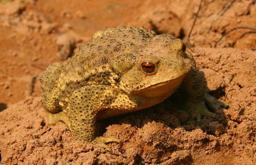
[[[181,3],[179,0],[172,0],[159,3],[139,16],[139,22],[157,33],[169,33],[184,38],[187,42],[199,2],[190,0]],[[197,47],[255,49],[255,17],[256,5],[253,0],[204,0],[190,36],[190,44]]]

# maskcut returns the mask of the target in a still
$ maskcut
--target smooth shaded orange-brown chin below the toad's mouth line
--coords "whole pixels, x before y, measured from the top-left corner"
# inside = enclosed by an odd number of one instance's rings
[[[171,95],[183,81],[184,76],[148,86],[147,88],[132,92],[132,94],[144,95],[146,97],[160,97]]]

